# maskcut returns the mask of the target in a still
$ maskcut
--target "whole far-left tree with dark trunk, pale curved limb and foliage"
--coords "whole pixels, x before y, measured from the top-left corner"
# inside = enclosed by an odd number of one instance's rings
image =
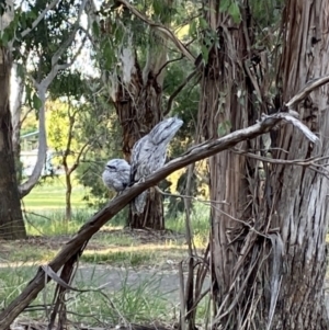
[[[47,143],[45,130],[45,101],[46,92],[58,72],[68,69],[79,54],[80,46],[70,48],[76,42],[77,32],[80,30],[80,19],[86,7],[84,1],[47,1],[38,0],[31,4],[21,2],[14,7],[13,1],[0,3],[1,15],[1,93],[2,103],[2,134],[5,139],[2,146],[1,168],[1,212],[0,236],[24,238],[25,229],[20,208],[20,197],[31,192],[39,179],[44,167]],[[24,8],[23,8],[24,5]],[[82,33],[83,35],[83,33]],[[19,122],[20,103],[13,105],[15,118],[11,120],[9,106],[10,72],[12,61],[18,64],[18,73],[25,77],[25,94],[30,105],[36,110],[38,117],[38,155],[32,175],[26,182],[18,186],[13,160],[12,139],[18,144],[18,132],[13,134],[12,123],[15,128]],[[31,70],[30,70],[31,69]],[[22,92],[19,93],[22,95]],[[16,151],[18,153],[18,151]]]

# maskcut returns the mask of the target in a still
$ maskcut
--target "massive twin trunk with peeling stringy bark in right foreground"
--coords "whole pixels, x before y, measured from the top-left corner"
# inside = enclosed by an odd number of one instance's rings
[[[219,43],[209,50],[202,79],[198,123],[206,139],[230,127],[246,127],[270,111],[270,71],[264,71],[263,54],[251,47],[254,29],[248,1],[242,1],[240,10],[242,22],[236,26],[225,25],[227,18],[215,4],[205,15]],[[287,102],[308,80],[329,73],[329,4],[287,0],[284,13],[281,65],[271,67],[280,67],[275,100]],[[257,64],[252,62],[256,55]],[[272,146],[285,150],[272,151],[274,158],[329,156],[328,92],[328,86],[322,87],[297,109],[300,118],[319,132],[321,145],[314,147],[286,125],[271,132]],[[268,139],[264,135],[239,148],[264,150]],[[209,171],[211,200],[226,202],[212,207],[214,326],[329,329],[322,287],[327,179],[306,168],[268,166],[232,151],[212,157]]]

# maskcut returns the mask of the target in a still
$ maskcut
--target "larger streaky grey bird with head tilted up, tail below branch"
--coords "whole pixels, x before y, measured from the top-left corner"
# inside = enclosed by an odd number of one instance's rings
[[[178,117],[167,118],[157,124],[149,134],[134,145],[132,151],[132,182],[144,180],[145,177],[164,164],[167,147],[182,125],[183,121]],[[135,213],[141,214],[144,212],[146,196],[147,191],[134,200]]]

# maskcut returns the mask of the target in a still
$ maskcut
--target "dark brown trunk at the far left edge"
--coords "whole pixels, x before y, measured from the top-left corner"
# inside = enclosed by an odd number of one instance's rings
[[[9,105],[10,52],[0,48],[0,238],[26,238],[12,148],[12,123]]]

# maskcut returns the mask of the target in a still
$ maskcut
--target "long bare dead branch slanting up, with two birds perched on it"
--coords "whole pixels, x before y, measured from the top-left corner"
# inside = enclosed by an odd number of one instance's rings
[[[57,255],[48,263],[48,266],[54,272],[58,272],[66,263],[70,263],[72,260],[77,260],[81,251],[83,251],[86,243],[97,231],[100,230],[100,228],[105,223],[113,218],[115,214],[123,209],[125,205],[127,205],[138,194],[149,189],[150,186],[156,185],[170,173],[201,159],[232,148],[242,140],[251,139],[263,133],[266,133],[282,120],[290,121],[290,117],[291,115],[288,115],[287,113],[276,113],[272,116],[263,116],[260,122],[250,127],[239,129],[222,138],[194,146],[181,157],[178,157],[177,159],[170,161],[162,169],[147,177],[145,182],[133,185],[132,187],[124,191],[120,196],[112,200],[103,209],[98,212],[88,223],[86,223],[80,228],[78,234],[70,241],[68,241],[57,253]],[[303,124],[300,123],[300,125]],[[303,129],[309,130],[306,126]],[[310,130],[307,132],[307,136],[313,140],[318,140],[318,138]],[[44,288],[45,283],[49,281],[50,277],[45,274],[43,268],[39,268],[36,275],[27,284],[25,289],[4,310],[1,311],[0,330],[8,329],[12,321],[20,315],[20,312],[22,312],[24,308],[29,306],[29,304]]]

